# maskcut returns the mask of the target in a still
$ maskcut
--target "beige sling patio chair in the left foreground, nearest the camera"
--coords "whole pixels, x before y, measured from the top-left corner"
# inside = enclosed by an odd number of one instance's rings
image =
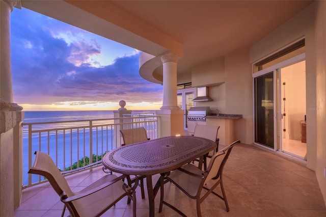
[[[39,151],[35,154],[35,162],[29,173],[42,175],[49,181],[60,196],[60,200],[68,208],[70,216],[100,216],[125,196],[132,200],[133,216],[136,216],[134,189],[138,185],[138,180],[130,187],[122,181],[122,178],[127,177],[126,175],[118,177],[108,174],[75,193],[71,191],[66,179],[49,155]]]

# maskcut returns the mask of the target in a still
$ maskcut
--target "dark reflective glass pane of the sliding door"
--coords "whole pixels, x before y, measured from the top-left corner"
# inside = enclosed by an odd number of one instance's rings
[[[274,149],[274,72],[254,78],[255,143]]]

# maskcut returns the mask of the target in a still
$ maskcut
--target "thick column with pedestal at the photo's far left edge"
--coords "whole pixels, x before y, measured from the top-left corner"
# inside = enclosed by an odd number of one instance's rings
[[[0,216],[13,216],[22,192],[22,107],[13,103],[10,13],[18,0],[0,0]]]

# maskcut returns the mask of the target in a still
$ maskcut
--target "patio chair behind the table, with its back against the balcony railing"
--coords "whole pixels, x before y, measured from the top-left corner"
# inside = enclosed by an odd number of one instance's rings
[[[123,144],[121,146],[133,144],[133,143],[139,143],[150,140],[150,138],[147,138],[146,129],[144,127],[138,127],[138,128],[132,128],[132,129],[121,129],[120,133],[123,138]],[[146,176],[139,176],[139,180],[141,181],[141,193],[142,193],[142,199],[145,198],[145,191],[144,191],[144,178]],[[128,180],[128,184],[132,184],[134,180],[131,179]],[[129,201],[129,199],[128,199]]]

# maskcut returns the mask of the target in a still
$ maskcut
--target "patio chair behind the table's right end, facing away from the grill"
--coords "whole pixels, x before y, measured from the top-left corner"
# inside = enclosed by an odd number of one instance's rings
[[[220,126],[210,126],[210,125],[197,124],[195,126],[194,134],[192,134],[194,137],[202,137],[202,138],[205,138],[205,139],[209,139],[211,141],[215,141],[215,143],[216,143],[215,150],[210,151],[208,154],[203,156],[204,170],[207,169],[207,159],[206,159],[206,157],[211,158],[214,153],[219,151],[219,141],[220,141],[220,139],[217,138],[219,129],[220,129]],[[200,161],[200,160],[197,160],[197,161]],[[201,162],[200,162],[199,166],[200,165],[201,165]]]

